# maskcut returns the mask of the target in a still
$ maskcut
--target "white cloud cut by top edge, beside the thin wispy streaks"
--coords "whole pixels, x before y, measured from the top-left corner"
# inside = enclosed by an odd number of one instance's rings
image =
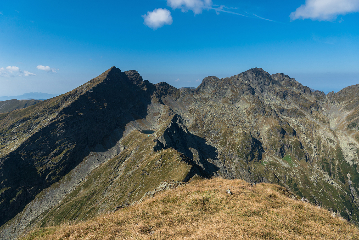
[[[200,14],[203,10],[212,9],[212,0],[167,0],[167,6],[172,9],[179,8],[182,12],[192,10],[194,14]]]

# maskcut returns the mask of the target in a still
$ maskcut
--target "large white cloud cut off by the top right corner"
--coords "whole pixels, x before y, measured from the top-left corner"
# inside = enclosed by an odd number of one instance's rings
[[[290,14],[290,19],[332,21],[338,15],[354,12],[359,12],[359,0],[306,0]]]

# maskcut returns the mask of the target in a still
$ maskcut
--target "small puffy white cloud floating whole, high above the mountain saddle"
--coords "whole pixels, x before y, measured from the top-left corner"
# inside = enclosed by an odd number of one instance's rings
[[[153,12],[147,12],[147,14],[142,15],[142,17],[145,19],[143,24],[153,30],[173,23],[171,12],[163,8],[156,8]]]

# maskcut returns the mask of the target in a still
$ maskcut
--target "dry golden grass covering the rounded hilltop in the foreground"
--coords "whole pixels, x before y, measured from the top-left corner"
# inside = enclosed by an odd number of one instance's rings
[[[196,180],[89,221],[39,228],[22,240],[359,239],[351,223],[280,190],[241,180]]]

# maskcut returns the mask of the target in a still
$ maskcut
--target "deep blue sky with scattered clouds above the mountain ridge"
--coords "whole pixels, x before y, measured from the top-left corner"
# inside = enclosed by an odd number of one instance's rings
[[[175,87],[261,67],[339,91],[359,83],[358,12],[359,0],[3,1],[0,96],[62,94],[112,66]]]

